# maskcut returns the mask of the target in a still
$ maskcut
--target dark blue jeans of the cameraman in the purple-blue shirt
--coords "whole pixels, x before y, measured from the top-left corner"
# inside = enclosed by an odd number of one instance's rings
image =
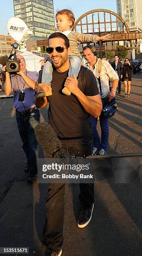
[[[27,156],[27,169],[31,173],[37,174],[37,139],[35,137],[35,127],[39,123],[40,113],[34,109],[32,113],[16,112],[16,121],[19,134],[23,142],[23,150]]]

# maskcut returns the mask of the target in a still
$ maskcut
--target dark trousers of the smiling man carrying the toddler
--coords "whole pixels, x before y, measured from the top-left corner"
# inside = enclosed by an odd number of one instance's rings
[[[75,153],[76,156],[92,154],[92,136],[87,139],[61,140],[65,152]],[[46,220],[43,238],[46,251],[58,251],[63,243],[64,222],[64,184],[48,184],[46,199]],[[94,202],[94,183],[80,183],[80,205],[89,207]]]

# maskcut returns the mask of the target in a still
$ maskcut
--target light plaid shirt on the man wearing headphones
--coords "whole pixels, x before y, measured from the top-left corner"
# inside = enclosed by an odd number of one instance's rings
[[[93,72],[93,74],[95,75],[96,80],[97,80],[97,87],[100,92],[100,84],[99,84],[99,80],[98,80],[99,76],[97,74],[98,62],[99,62],[99,59],[97,59],[94,69],[90,66],[90,64],[88,62],[85,65],[86,65],[87,69],[90,69]],[[118,77],[117,73],[115,72],[115,70],[110,65],[110,63],[108,61],[102,60],[102,68],[101,68],[101,73],[100,73],[102,96],[105,96],[108,93],[110,93],[109,79],[112,79],[112,81],[115,79],[119,80],[119,77]]]

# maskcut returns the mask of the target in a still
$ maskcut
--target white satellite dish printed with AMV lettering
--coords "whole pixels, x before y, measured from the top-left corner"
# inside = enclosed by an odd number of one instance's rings
[[[12,17],[7,22],[7,30],[15,41],[21,41],[28,30],[26,23],[20,18]]]

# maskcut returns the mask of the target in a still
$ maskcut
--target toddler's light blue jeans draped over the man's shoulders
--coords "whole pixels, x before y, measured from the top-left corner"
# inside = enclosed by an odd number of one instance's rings
[[[75,74],[75,76],[77,77],[80,71],[82,59],[78,56],[69,56],[69,59],[70,59],[70,69],[69,69],[68,76],[73,77],[73,74]],[[48,60],[46,61],[42,71],[42,83],[49,84],[52,81],[52,72],[53,72],[52,61]]]

